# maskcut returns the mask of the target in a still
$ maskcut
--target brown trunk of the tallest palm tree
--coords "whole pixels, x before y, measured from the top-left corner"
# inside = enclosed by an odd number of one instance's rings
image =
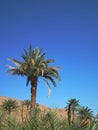
[[[37,78],[33,78],[31,81],[31,108],[36,105],[37,80]]]

